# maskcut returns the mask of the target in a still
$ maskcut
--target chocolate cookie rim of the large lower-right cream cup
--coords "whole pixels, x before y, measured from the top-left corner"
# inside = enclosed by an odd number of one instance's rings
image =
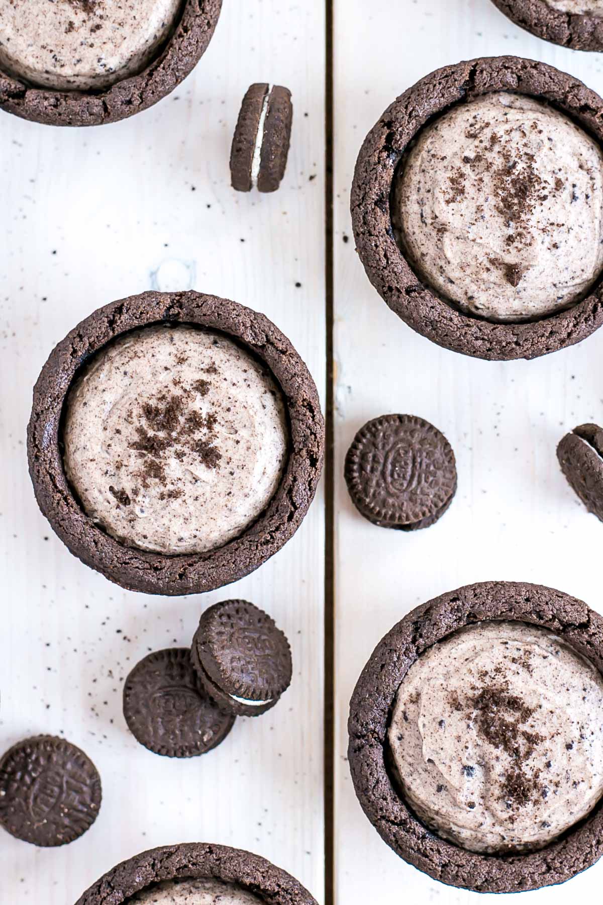
[[[603,854],[603,800],[539,851],[479,854],[427,829],[406,805],[386,762],[391,709],[411,664],[465,625],[490,620],[550,629],[603,672],[603,617],[582,601],[521,582],[458,588],[410,611],[373,651],[350,703],[348,758],[364,814],[404,861],[434,880],[476,892],[535,890],[570,880],[598,861]]]

